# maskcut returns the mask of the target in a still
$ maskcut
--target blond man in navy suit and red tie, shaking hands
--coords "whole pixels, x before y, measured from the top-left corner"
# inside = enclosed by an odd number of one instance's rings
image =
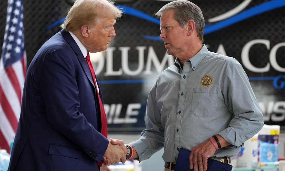
[[[9,171],[96,171],[103,156],[125,162],[122,141],[114,145],[102,134],[103,96],[85,59],[107,49],[121,13],[107,0],[77,0],[63,29],[38,50],[27,71]]]

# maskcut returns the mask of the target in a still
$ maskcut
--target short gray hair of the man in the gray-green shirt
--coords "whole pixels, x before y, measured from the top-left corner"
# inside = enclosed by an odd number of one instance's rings
[[[161,17],[166,11],[174,9],[173,18],[179,23],[180,27],[184,27],[188,20],[193,20],[196,25],[196,32],[201,42],[204,41],[204,26],[205,20],[201,9],[194,3],[186,0],[172,1],[164,5],[159,11],[157,11],[156,16]]]

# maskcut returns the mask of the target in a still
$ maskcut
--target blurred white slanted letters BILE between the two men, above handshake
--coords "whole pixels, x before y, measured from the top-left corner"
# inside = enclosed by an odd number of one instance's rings
[[[139,115],[139,109],[141,109],[141,103],[130,103],[127,106],[127,111],[124,118],[120,118],[122,111],[122,104],[104,104],[105,113],[107,115],[108,124],[129,124],[137,123],[136,116]]]

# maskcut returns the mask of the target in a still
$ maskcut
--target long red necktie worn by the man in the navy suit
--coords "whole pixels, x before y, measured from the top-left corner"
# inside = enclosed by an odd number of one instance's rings
[[[86,59],[86,62],[88,64],[89,70],[91,72],[91,75],[92,75],[92,78],[93,78],[93,82],[94,82],[94,86],[95,86],[95,89],[96,89],[97,99],[99,101],[100,113],[101,113],[101,134],[104,135],[107,138],[108,131],[107,131],[106,113],[105,113],[105,110],[104,110],[103,103],[101,101],[101,97],[99,95],[99,91],[98,91],[97,86],[96,86],[95,73],[94,73],[94,69],[93,69],[93,66],[92,66],[92,63],[91,63],[91,60],[90,60],[89,52],[87,52],[87,56],[86,56],[85,59]],[[103,164],[103,160],[101,160],[100,163],[99,162],[97,162],[97,163],[101,167],[102,164]]]

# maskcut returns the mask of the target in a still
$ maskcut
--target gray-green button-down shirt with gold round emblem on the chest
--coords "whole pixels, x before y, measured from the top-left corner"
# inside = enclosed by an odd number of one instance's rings
[[[205,45],[190,60],[160,73],[146,107],[146,129],[130,143],[139,161],[164,147],[165,162],[176,162],[180,148],[191,150],[215,134],[230,146],[213,156],[235,156],[264,119],[249,79],[235,59],[209,52]]]

